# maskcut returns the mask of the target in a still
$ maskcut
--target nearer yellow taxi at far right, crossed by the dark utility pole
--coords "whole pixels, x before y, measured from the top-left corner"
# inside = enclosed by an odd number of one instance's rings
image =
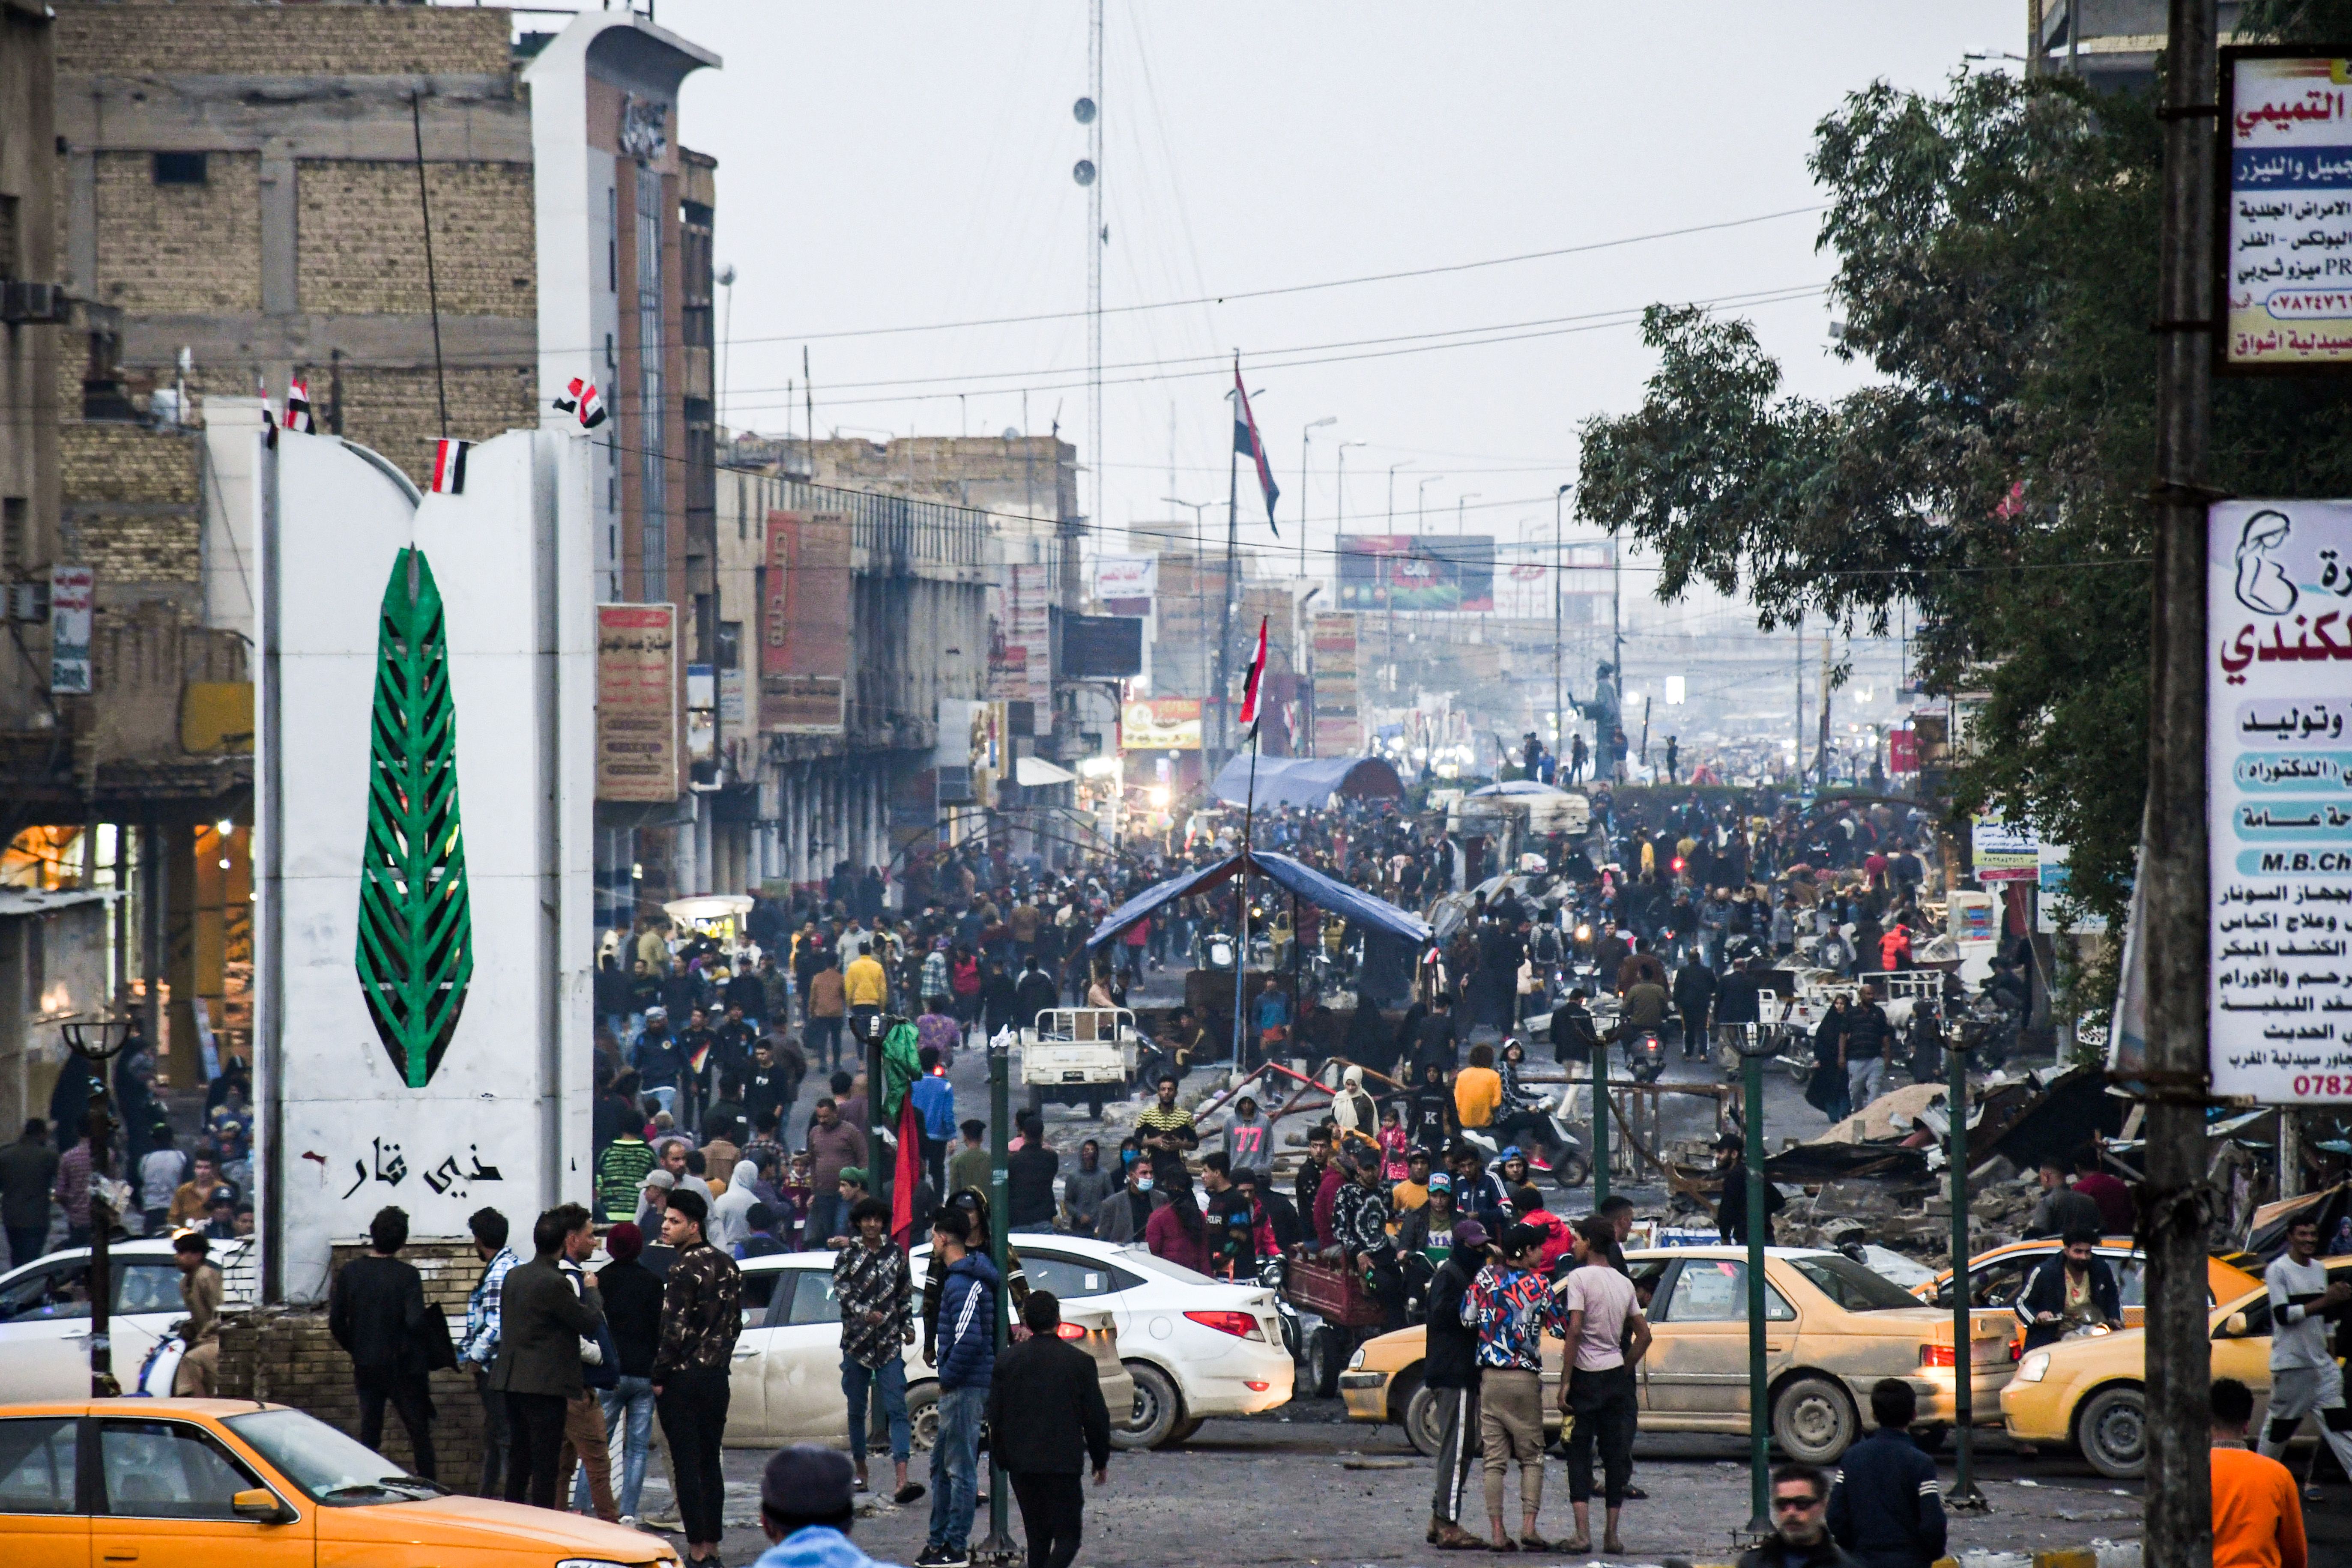
[[[2352,1281],[2352,1255],[2326,1258],[2328,1284]],[[2253,1281],[2209,1314],[2213,1378],[2253,1389],[2253,1425],[2270,1401],[2270,1295]],[[2002,1429],[2020,1443],[2074,1443],[2103,1476],[2147,1465],[2147,1335],[2140,1328],[2058,1340],[2025,1352],[2002,1389]]]

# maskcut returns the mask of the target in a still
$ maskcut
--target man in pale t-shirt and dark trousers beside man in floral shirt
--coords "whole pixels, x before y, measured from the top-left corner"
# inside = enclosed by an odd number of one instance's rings
[[[1576,1420],[1569,1432],[1569,1502],[1576,1537],[1569,1552],[1592,1549],[1592,1443],[1602,1450],[1602,1500],[1609,1507],[1602,1552],[1618,1544],[1618,1512],[1632,1474],[1632,1434],[1639,1425],[1632,1368],[1649,1352],[1649,1319],[1635,1300],[1632,1281],[1609,1267],[1616,1225],[1599,1215],[1576,1222],[1576,1265],[1569,1272],[1569,1375],[1559,1380],[1559,1408]],[[1632,1335],[1628,1338],[1628,1328]]]

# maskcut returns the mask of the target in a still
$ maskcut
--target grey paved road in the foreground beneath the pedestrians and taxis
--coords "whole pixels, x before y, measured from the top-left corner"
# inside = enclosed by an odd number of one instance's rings
[[[2098,1476],[2072,1455],[2018,1460],[1999,1439],[1987,1443],[1978,1479],[1992,1512],[1952,1521],[1955,1549],[2034,1552],[2093,1540],[2136,1540],[2140,1486]],[[727,1561],[746,1563],[764,1544],[757,1530],[757,1476],[764,1455],[731,1450]],[[875,1460],[875,1476],[887,1465]],[[924,1458],[915,1460],[917,1479]],[[1635,1474],[1646,1502],[1625,1507],[1628,1559],[1663,1563],[1731,1561],[1731,1530],[1748,1519],[1745,1446],[1738,1439],[1649,1436],[1635,1446]],[[1950,1455],[1943,1460],[1950,1483]],[[1270,1415],[1211,1420],[1176,1450],[1112,1455],[1110,1483],[1087,1493],[1082,1561],[1105,1566],[1185,1563],[1444,1563],[1461,1559],[1423,1544],[1432,1469],[1395,1427],[1338,1418],[1336,1401],[1298,1401]],[[659,1481],[649,1483],[659,1490]],[[652,1500],[649,1500],[652,1505]],[[2333,1486],[2312,1505],[2324,1516],[2352,1514],[2352,1493]],[[1510,1483],[1517,1523],[1517,1476]],[[981,1507],[985,1533],[988,1509]],[[856,1526],[858,1542],[894,1563],[922,1552],[929,1500],[898,1509],[877,1505]],[[1569,1533],[1566,1476],[1545,1469],[1541,1516],[1548,1535]],[[1018,1540],[1018,1509],[1011,1516]],[[1562,1563],[1564,1554],[1534,1556]],[[1585,1559],[1576,1559],[1585,1561]]]

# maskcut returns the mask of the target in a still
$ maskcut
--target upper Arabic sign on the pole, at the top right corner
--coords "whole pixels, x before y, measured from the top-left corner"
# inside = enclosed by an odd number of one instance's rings
[[[2352,59],[2223,49],[2225,371],[2352,364]]]

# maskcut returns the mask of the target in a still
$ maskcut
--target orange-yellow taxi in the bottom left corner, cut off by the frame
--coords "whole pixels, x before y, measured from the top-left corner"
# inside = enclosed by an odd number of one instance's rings
[[[0,1406],[9,1568],[677,1568],[659,1535],[454,1497],[282,1406]]]

